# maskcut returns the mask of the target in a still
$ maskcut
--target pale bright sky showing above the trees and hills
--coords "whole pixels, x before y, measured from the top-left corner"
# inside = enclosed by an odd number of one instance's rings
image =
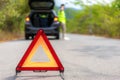
[[[74,4],[71,3],[71,2],[74,2],[74,1],[75,0],[55,0],[57,6],[60,6],[61,4],[65,4],[66,7],[80,9],[79,5],[74,5]],[[113,0],[82,0],[82,1],[86,5],[92,5],[92,4],[97,4],[97,2],[102,3],[102,4],[109,4]]]

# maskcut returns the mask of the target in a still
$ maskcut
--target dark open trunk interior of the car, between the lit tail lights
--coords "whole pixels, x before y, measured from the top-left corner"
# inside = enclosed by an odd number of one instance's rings
[[[38,28],[50,27],[54,21],[52,12],[34,12],[30,18],[32,25]]]

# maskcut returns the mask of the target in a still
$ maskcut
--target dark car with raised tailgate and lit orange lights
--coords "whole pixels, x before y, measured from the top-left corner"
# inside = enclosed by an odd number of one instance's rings
[[[54,0],[29,0],[30,14],[25,19],[25,39],[32,39],[38,30],[44,30],[48,36],[60,38],[59,21],[54,11]]]

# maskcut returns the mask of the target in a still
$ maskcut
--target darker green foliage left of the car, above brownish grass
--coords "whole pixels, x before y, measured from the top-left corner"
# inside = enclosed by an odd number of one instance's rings
[[[0,30],[14,32],[23,29],[24,17],[29,8],[27,0],[2,0],[0,11]]]

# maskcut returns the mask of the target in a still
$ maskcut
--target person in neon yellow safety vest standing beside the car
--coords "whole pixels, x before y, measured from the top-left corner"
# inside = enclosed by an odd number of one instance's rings
[[[62,27],[62,38],[65,39],[66,33],[66,16],[64,12],[64,4],[60,6],[60,10],[58,11],[58,20],[60,22],[60,26]]]

